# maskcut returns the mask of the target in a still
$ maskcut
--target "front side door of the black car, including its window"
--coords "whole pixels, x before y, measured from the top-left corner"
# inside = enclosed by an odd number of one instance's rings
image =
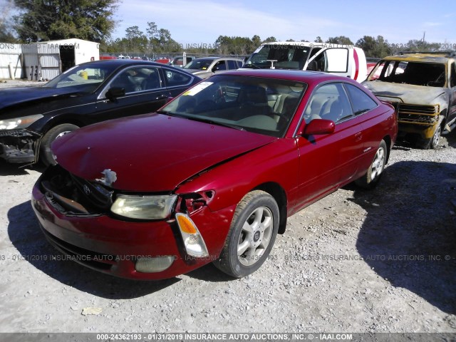
[[[108,93],[110,89],[124,89],[125,94],[112,98]],[[101,90],[94,119],[101,121],[151,113],[165,105],[169,96],[159,67],[131,66],[120,71]]]

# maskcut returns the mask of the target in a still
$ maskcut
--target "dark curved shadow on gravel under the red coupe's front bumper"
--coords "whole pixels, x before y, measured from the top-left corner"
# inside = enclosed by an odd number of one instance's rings
[[[181,279],[133,281],[93,271],[75,261],[64,260],[63,254],[48,243],[36,220],[31,202],[12,207],[8,212],[8,234],[12,244],[36,269],[80,291],[106,299],[133,299],[153,294]],[[55,260],[52,260],[56,257]],[[46,260],[45,260],[46,259]]]

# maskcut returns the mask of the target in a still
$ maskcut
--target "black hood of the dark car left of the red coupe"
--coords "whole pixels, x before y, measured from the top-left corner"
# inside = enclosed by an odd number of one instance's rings
[[[53,100],[56,96],[77,94],[74,88],[21,87],[0,90],[1,109],[29,101]]]

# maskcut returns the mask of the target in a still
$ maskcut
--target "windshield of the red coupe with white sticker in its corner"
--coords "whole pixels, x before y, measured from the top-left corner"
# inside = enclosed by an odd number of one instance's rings
[[[158,113],[281,137],[306,88],[306,83],[274,78],[213,76]]]

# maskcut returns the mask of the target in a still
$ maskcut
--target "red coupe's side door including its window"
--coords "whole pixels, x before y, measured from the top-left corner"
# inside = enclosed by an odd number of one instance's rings
[[[327,83],[314,90],[304,112],[306,124],[311,120],[332,120],[331,134],[303,135],[297,139],[299,149],[298,203],[304,205],[336,190],[358,170],[363,133],[341,83]]]

